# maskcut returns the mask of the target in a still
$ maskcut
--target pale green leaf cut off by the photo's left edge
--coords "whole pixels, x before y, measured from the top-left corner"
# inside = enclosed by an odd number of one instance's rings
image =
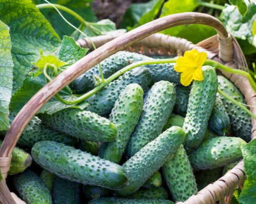
[[[9,27],[0,20],[0,131],[9,129],[9,103],[12,95],[11,39]]]

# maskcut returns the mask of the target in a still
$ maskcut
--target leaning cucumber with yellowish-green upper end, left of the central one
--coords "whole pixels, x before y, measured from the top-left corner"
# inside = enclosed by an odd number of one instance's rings
[[[110,121],[118,127],[117,138],[104,143],[99,150],[100,158],[119,163],[143,107],[143,90],[138,84],[128,85],[120,94],[110,114]]]

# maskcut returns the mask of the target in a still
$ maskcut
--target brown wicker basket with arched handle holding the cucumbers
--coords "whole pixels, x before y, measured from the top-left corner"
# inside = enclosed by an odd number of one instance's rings
[[[192,23],[210,25],[215,28],[217,35],[194,45],[185,39],[170,37],[163,34],[154,34],[170,27]],[[98,48],[74,63],[69,69],[59,74],[53,81],[39,90],[13,120],[11,128],[0,149],[0,168],[4,178],[6,178],[9,170],[12,150],[16,145],[20,134],[36,112],[46,104],[54,94],[79,77],[83,72],[89,70],[97,63],[119,50],[125,49],[130,52],[141,53],[148,56],[171,56],[176,55],[177,52],[184,53],[186,50],[195,48],[200,52],[206,52],[208,59],[217,60],[232,68],[239,67],[240,69],[247,70],[245,57],[237,41],[227,33],[223,24],[218,19],[207,14],[194,12],[173,14],[146,23],[141,27],[122,35],[99,36],[92,38],[92,40]],[[92,44],[88,39],[78,40],[77,44],[81,47],[92,48]],[[245,96],[246,103],[252,106],[250,107],[250,110],[256,114],[256,108],[254,108],[256,107],[256,94],[251,88],[247,78],[237,74],[230,74],[224,71],[221,72],[236,84]],[[256,123],[253,118],[251,118],[251,122],[251,137],[253,139],[256,137]],[[216,203],[217,201],[219,201],[218,203],[229,203],[234,190],[241,188],[245,179],[244,164],[243,161],[241,161],[218,181],[209,184],[186,201],[178,203],[210,204]],[[4,204],[25,203],[15,194],[10,193],[5,183],[5,179],[0,182],[0,202]]]

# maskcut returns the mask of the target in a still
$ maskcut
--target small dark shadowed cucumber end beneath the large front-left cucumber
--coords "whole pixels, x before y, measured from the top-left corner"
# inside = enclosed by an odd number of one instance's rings
[[[106,188],[101,188],[99,186],[83,186],[83,194],[88,199],[108,197],[111,195],[111,191]]]

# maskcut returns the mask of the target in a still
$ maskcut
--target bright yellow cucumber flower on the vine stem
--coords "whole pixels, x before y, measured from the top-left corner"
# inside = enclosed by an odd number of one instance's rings
[[[186,51],[184,57],[177,59],[175,71],[182,72],[180,82],[188,86],[193,80],[203,81],[202,66],[207,58],[206,53],[199,53],[196,49]]]

